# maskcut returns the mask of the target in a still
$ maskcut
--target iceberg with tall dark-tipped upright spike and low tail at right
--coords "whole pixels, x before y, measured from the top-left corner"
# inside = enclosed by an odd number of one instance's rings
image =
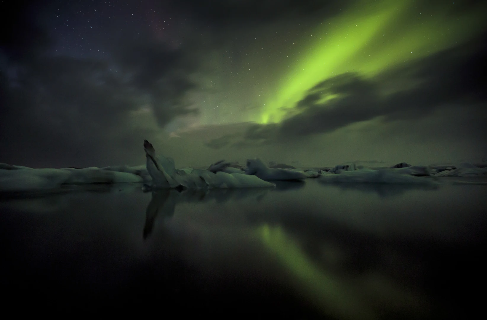
[[[147,170],[152,177],[152,188],[259,188],[275,187],[273,183],[264,181],[254,175],[242,173],[212,172],[209,170],[192,169],[178,170],[174,162],[164,156],[156,157],[154,147],[144,140],[147,157]],[[212,169],[224,167],[225,164],[210,166]]]

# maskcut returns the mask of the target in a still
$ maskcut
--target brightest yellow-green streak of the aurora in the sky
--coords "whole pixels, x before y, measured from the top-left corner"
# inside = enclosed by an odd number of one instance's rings
[[[406,3],[406,1],[401,1]],[[404,5],[404,4],[403,4]],[[367,44],[383,25],[399,12],[398,8],[386,8],[363,14],[366,7],[340,15],[321,27],[316,33],[321,37],[296,63],[294,71],[279,86],[278,96],[267,102],[262,123],[279,122],[284,108],[292,108],[305,91],[319,81],[354,68],[347,67],[347,60]],[[350,61],[348,62],[350,65]]]

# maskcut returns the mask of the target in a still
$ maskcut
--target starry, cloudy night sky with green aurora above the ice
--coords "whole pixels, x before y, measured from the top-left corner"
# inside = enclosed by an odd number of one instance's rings
[[[0,162],[487,159],[486,1],[1,1]]]

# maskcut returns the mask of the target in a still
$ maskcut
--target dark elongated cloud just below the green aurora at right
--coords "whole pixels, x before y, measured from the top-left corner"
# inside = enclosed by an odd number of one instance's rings
[[[416,119],[452,103],[485,107],[485,38],[370,79],[353,73],[326,79],[296,104],[287,119],[280,124],[254,125],[245,132],[244,140],[285,141],[332,132],[377,116],[384,116],[384,121]],[[330,95],[335,98],[321,102]]]

